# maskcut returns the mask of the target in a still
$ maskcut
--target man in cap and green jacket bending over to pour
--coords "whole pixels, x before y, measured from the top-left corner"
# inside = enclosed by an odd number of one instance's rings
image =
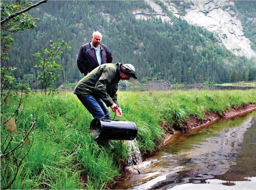
[[[74,94],[95,119],[110,119],[110,112],[104,103],[115,111],[116,116],[121,117],[122,110],[116,94],[118,82],[131,77],[138,78],[132,64],[103,64],[78,82]]]

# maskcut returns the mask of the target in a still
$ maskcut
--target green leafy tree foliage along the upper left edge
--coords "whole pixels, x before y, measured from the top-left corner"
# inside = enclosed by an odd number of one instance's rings
[[[15,4],[6,4],[1,1],[1,20],[30,5],[31,3],[27,3],[26,1],[17,1]],[[9,66],[8,63],[6,64],[6,60],[9,60],[8,53],[10,48],[14,45],[14,39],[11,37],[10,33],[15,34],[23,30],[31,31],[36,27],[36,20],[38,19],[32,18],[27,12],[24,12],[4,24],[1,24],[1,105],[2,100],[7,99],[9,96],[10,90],[15,82],[13,72],[16,68]],[[26,84],[17,84],[16,88],[20,87],[28,89]]]

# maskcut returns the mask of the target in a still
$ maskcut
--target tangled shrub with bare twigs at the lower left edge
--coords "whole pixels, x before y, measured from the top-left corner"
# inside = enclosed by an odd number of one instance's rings
[[[5,69],[10,71],[10,67],[7,67],[1,72],[6,71]],[[16,188],[19,189],[20,181],[16,178],[21,177],[21,165],[33,144],[32,131],[37,120],[33,110],[29,122],[20,125],[19,119],[23,114],[25,98],[30,88],[26,84],[13,85],[12,80],[10,76],[1,75],[1,81],[4,83],[1,84],[1,137],[4,136],[1,140],[1,189],[9,189],[12,186],[18,186]]]

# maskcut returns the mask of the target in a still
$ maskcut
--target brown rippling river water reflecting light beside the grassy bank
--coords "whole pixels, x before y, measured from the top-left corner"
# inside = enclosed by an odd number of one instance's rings
[[[114,189],[256,189],[255,137],[256,111],[177,133]]]

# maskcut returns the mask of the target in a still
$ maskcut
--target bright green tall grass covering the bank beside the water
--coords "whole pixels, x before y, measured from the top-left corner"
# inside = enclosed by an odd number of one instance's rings
[[[203,118],[206,111],[221,114],[231,106],[256,102],[256,90],[118,92],[118,96],[121,120],[137,124],[136,139],[142,152],[158,149],[166,132],[159,126],[163,119],[175,128],[192,114]],[[1,106],[1,121],[15,111],[14,102]],[[10,189],[105,189],[112,183],[127,157],[122,141],[112,141],[114,149],[98,145],[89,136],[93,118],[72,92],[46,97],[30,94],[17,123],[18,132],[30,124],[30,114],[37,105],[34,142]],[[1,125],[1,151],[8,134]],[[28,148],[23,147],[24,151]],[[9,160],[1,159],[1,176]],[[9,166],[8,175],[14,175],[15,166]]]

